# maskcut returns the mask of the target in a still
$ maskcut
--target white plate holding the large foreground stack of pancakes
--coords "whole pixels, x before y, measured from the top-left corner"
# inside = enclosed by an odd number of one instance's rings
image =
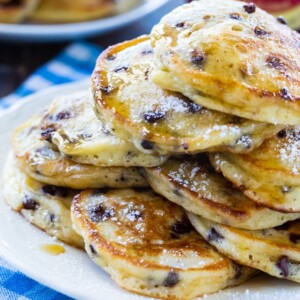
[[[54,96],[88,89],[89,82],[65,84],[31,95],[0,116],[0,168],[10,150],[13,128],[50,103]],[[81,250],[64,245],[66,252],[50,256],[41,245],[53,238],[11,211],[0,194],[0,256],[29,277],[76,299],[148,299],[120,289]],[[0,295],[1,298],[1,295]],[[236,288],[207,296],[208,300],[297,300],[299,285],[261,276]]]

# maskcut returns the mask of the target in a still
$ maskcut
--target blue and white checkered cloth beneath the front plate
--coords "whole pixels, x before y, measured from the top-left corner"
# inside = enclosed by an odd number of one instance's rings
[[[101,49],[87,42],[73,43],[46,65],[40,67],[16,91],[0,99],[0,111],[22,101],[24,96],[52,85],[86,79]],[[70,299],[18,272],[0,258],[0,300]]]

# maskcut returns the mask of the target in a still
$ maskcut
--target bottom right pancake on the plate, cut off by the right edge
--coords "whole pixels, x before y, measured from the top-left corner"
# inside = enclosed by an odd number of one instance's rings
[[[188,215],[196,230],[224,255],[272,276],[300,282],[300,221],[250,231]]]

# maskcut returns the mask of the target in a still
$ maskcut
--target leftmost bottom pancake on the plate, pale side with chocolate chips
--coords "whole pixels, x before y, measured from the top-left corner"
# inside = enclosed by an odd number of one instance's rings
[[[44,185],[16,166],[10,153],[4,170],[3,195],[8,205],[47,234],[75,247],[83,248],[83,239],[72,228],[70,206],[79,191]]]

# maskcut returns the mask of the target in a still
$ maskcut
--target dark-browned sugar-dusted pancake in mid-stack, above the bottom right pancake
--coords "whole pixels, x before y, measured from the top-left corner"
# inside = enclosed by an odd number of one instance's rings
[[[251,201],[217,174],[203,155],[169,159],[145,173],[157,193],[214,222],[257,230],[300,218],[300,214],[272,211]]]

